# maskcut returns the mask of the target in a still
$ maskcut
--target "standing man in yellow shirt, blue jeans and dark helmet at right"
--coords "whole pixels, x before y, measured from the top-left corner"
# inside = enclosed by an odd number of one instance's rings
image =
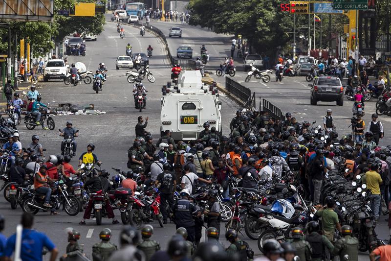
[[[379,220],[379,208],[380,208],[380,185],[383,183],[383,180],[377,170],[379,165],[377,163],[372,163],[370,165],[370,170],[365,173],[367,180],[367,189],[372,192],[370,199],[370,208],[372,209],[373,214],[375,215],[375,222]]]

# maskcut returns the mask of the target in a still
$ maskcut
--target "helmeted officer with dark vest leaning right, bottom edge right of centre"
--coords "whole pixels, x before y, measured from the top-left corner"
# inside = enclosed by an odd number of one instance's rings
[[[225,250],[228,256],[233,257],[235,253],[238,253],[238,260],[240,261],[252,261],[254,259],[254,251],[247,242],[239,239],[238,232],[234,229],[228,229],[225,238],[231,243]]]

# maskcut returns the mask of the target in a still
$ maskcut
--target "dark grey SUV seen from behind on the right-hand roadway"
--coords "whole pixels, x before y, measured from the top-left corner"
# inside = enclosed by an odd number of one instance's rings
[[[311,87],[311,105],[318,101],[336,101],[338,106],[344,105],[344,87],[337,76],[319,76]]]

